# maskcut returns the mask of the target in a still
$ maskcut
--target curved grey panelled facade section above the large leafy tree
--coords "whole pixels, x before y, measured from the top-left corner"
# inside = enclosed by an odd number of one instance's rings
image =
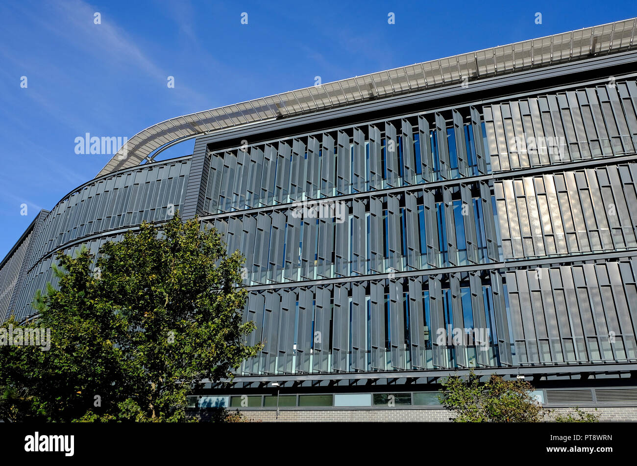
[[[55,253],[83,246],[97,254],[142,221],[162,222],[183,205],[190,157],[136,167],[96,178],[43,210],[0,266],[0,319],[34,314],[36,290],[57,286]],[[19,263],[19,266],[18,266]]]

